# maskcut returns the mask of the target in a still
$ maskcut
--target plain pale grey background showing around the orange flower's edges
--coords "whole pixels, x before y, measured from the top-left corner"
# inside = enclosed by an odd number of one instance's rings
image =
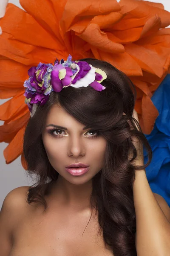
[[[1,1],[2,0],[0,0],[0,2]],[[150,0],[150,2],[162,3],[164,5],[164,9],[170,12],[170,0]],[[9,3],[14,3],[22,8],[19,0],[9,0]],[[7,100],[8,99],[0,99],[0,105]],[[3,125],[3,121],[0,121],[0,125]],[[30,186],[34,183],[29,177],[27,177],[26,171],[21,165],[20,157],[18,157],[14,162],[6,164],[3,156],[3,150],[7,145],[8,143],[0,143],[0,208],[2,207],[4,198],[12,189],[19,186]]]

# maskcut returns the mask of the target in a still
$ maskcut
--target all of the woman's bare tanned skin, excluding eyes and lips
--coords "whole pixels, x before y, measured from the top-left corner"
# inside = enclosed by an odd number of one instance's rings
[[[49,135],[48,130],[53,129],[51,126],[43,131],[43,143],[49,161],[59,172],[59,179],[53,183],[50,195],[45,198],[48,211],[42,214],[39,207],[28,206],[25,196],[29,187],[18,187],[9,192],[0,212],[1,253],[3,256],[26,256],[31,255],[33,251],[34,254],[42,256],[113,256],[112,248],[105,247],[102,234],[97,237],[97,218],[91,218],[88,224],[91,178],[102,169],[106,141],[102,136],[95,137],[95,140],[88,138],[87,134],[90,135],[92,131],[89,133],[90,129],[82,130],[84,125],[59,106],[51,109],[46,120],[46,125],[48,124],[68,128],[68,131],[54,132],[63,134],[60,138]],[[92,134],[95,134],[95,131]],[[138,142],[134,140],[134,143],[140,151]],[[136,164],[138,160],[140,157]],[[65,166],[78,162],[89,165],[89,172],[80,177],[65,172]],[[169,207],[161,196],[153,193],[158,204],[156,203],[147,179],[143,177],[145,173],[137,173],[133,183],[137,218],[137,255],[168,255]]]

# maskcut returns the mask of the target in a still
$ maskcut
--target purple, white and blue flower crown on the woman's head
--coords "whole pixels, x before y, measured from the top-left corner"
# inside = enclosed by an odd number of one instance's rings
[[[29,78],[24,82],[26,96],[31,117],[37,105],[44,105],[52,91],[59,93],[62,88],[72,86],[75,88],[90,85],[95,90],[102,91],[106,87],[101,82],[107,78],[106,73],[93,67],[86,61],[71,61],[69,54],[67,61],[58,59],[52,64],[39,63],[37,67],[28,70]]]

